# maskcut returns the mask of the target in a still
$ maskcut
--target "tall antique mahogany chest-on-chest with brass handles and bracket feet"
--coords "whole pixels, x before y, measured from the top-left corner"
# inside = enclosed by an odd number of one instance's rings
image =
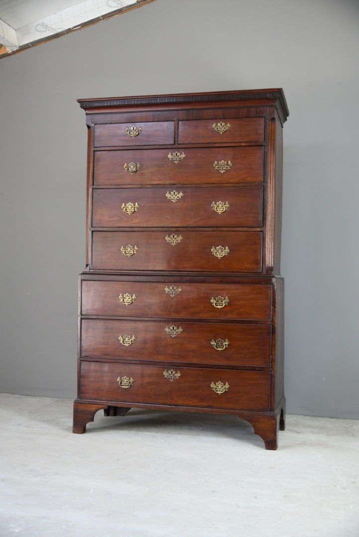
[[[87,266],[74,432],[131,407],[284,429],[281,89],[80,99]]]

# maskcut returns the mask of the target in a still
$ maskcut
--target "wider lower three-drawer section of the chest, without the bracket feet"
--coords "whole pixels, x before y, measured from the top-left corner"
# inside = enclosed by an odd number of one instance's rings
[[[271,278],[83,275],[79,397],[268,410],[277,302]]]

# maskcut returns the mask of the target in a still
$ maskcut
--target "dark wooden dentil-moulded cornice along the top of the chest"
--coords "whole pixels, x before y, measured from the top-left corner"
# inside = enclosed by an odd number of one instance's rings
[[[158,104],[186,104],[186,103],[214,103],[216,101],[233,100],[268,100],[279,101],[283,109],[285,119],[289,115],[284,92],[281,88],[263,90],[238,90],[209,93],[182,93],[169,95],[148,95],[139,97],[111,97],[94,99],[77,99],[81,108],[91,110],[91,108],[106,108],[113,106],[143,106]]]

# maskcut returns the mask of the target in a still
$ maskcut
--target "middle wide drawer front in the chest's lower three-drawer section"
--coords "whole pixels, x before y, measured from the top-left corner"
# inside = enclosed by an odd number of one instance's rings
[[[270,367],[271,325],[82,320],[81,356]]]

